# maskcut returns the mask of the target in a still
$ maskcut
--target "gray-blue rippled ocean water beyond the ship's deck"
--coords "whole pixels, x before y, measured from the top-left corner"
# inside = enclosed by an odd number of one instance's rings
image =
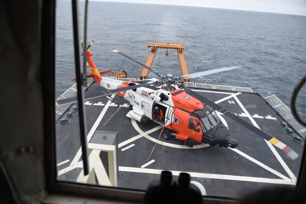
[[[84,2],[79,2],[80,38],[84,36]],[[116,48],[142,61],[147,38],[185,41],[188,72],[240,66],[193,82],[250,87],[264,95],[275,94],[290,107],[292,92],[306,75],[306,16],[137,3],[89,2],[87,42],[99,71],[125,70],[128,77],[139,66],[110,51]],[[87,43],[88,44],[88,43]],[[158,50],[152,67],[180,75],[175,50]],[[56,5],[56,97],[74,83],[72,5]],[[88,70],[88,74],[90,71]],[[110,74],[106,75],[110,76]],[[306,87],[296,107],[306,120]]]

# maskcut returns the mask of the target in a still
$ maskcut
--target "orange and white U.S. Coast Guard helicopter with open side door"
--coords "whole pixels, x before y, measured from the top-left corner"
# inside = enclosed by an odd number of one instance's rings
[[[118,97],[129,101],[129,107],[132,109],[128,113],[130,118],[143,124],[149,124],[150,121],[159,123],[165,126],[165,129],[162,131],[162,137],[165,140],[175,137],[176,139],[183,140],[184,144],[190,148],[193,147],[195,142],[209,144],[210,146],[218,145],[225,148],[237,148],[237,140],[230,137],[228,128],[218,116],[223,114],[280,148],[289,158],[295,159],[298,157],[295,151],[275,137],[189,89],[181,81],[181,79],[186,77],[196,78],[241,67],[223,67],[194,74],[173,76],[161,72],[157,73],[151,67],[134,60],[117,49],[111,49],[111,51],[139,64],[160,78],[140,78],[123,82],[117,79],[102,77],[99,75],[99,71],[91,58],[92,52],[87,50],[88,67],[92,72],[92,78],[107,90],[102,91],[102,93],[96,93],[95,96],[85,96],[86,100],[116,94]],[[72,97],[57,100],[56,104],[62,105],[76,101],[75,97]],[[162,114],[160,114],[161,111]]]

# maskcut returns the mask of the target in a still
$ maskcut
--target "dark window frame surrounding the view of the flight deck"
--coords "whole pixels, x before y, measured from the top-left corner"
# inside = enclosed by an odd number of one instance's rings
[[[63,182],[57,180],[55,161],[55,5],[56,0],[43,1],[42,7],[42,34],[41,34],[41,67],[43,80],[43,109],[44,109],[44,154],[45,154],[45,182],[47,194],[50,195],[77,195],[91,196],[98,199],[114,199],[132,202],[142,202],[145,191],[103,187],[89,184]],[[306,148],[304,148],[303,163],[297,179],[297,189],[305,189],[304,164]],[[47,196],[48,197],[48,196]],[[228,203],[233,199],[203,197],[203,201],[210,203]],[[115,201],[114,201],[115,202]]]

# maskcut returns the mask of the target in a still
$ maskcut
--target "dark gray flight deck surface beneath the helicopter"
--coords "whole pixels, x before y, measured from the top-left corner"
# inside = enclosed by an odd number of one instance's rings
[[[94,83],[88,91],[98,92],[101,89],[103,88]],[[258,135],[249,133],[244,127],[224,116],[230,136],[238,141],[236,149],[202,144],[194,144],[193,148],[187,148],[183,140],[164,140],[160,137],[148,160],[150,163],[143,166],[151,154],[162,126],[155,122],[146,126],[127,117],[130,109],[126,102],[126,107],[121,107],[103,127],[125,100],[117,96],[92,99],[85,106],[88,133],[92,134],[95,130],[118,132],[118,187],[145,190],[153,180],[159,180],[161,170],[170,170],[174,180],[177,180],[180,172],[189,173],[191,180],[201,183],[206,195],[210,197],[236,198],[259,188],[279,185],[295,188],[304,142],[300,144],[291,140],[291,135],[284,132],[285,127],[279,126],[282,118],[271,106],[255,93],[195,90],[214,102],[219,101],[218,104],[241,115],[248,122],[251,122],[249,118],[252,118],[260,129],[288,145],[300,156],[291,160],[282,150],[274,149]],[[226,98],[229,96],[232,97]],[[104,105],[99,105],[99,102]],[[77,155],[80,149],[77,113],[69,119],[69,123],[57,125],[58,180],[74,182],[82,170],[82,157]],[[157,130],[136,137],[154,128]],[[133,140],[130,140],[132,138]],[[133,146],[122,151],[130,145]],[[276,150],[276,154],[272,150]],[[76,166],[78,167],[75,168]]]

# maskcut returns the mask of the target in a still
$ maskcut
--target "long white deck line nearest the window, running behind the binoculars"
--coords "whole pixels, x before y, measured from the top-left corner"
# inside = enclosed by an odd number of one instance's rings
[[[161,174],[164,169],[146,169],[146,168],[136,168],[119,166],[119,171],[136,172],[136,173],[154,173]],[[171,170],[170,170],[171,171]],[[171,171],[172,175],[179,176],[181,171]],[[268,179],[260,177],[245,177],[245,176],[233,176],[233,175],[222,175],[222,174],[211,174],[211,173],[198,173],[198,172],[186,172],[191,177],[197,178],[211,178],[211,179],[222,179],[222,180],[235,180],[235,181],[250,181],[250,182],[261,182],[270,184],[288,184],[293,185],[289,180],[283,179]]]

